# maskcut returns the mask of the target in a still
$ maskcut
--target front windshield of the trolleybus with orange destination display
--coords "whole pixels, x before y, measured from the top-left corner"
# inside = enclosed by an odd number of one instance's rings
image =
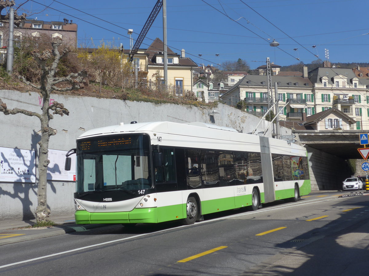
[[[77,141],[77,192],[152,187],[149,137],[107,135]]]

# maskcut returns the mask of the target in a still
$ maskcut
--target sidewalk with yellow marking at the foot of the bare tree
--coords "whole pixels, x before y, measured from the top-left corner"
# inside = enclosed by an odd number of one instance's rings
[[[0,245],[19,243],[21,241],[35,240],[38,238],[58,236],[66,233],[86,231],[111,224],[76,224],[74,214],[64,216],[52,216],[50,220],[56,225],[42,228],[22,228],[32,226],[36,219],[20,220],[8,219],[0,221]]]

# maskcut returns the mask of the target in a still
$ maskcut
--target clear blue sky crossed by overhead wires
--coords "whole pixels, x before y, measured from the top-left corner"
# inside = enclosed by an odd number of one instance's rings
[[[133,29],[135,42],[156,3],[59,1],[70,7],[52,0],[30,0],[22,7],[37,13],[31,18],[38,20],[73,20],[79,46],[99,46],[104,40],[116,46],[123,43],[125,49],[130,47],[127,29]],[[325,49],[332,63],[368,62],[368,8],[369,1],[359,0],[167,0],[168,46],[176,53],[183,48],[186,57],[213,66],[241,58],[256,68],[266,57],[281,66],[311,63],[316,56],[326,60]],[[163,38],[162,12],[141,48],[156,37]],[[273,39],[278,47],[269,46]]]

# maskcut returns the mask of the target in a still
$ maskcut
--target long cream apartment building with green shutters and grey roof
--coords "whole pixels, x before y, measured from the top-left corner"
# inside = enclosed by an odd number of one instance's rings
[[[369,128],[369,78],[358,78],[351,68],[318,67],[307,72],[304,67],[301,77],[273,75],[269,95],[267,81],[266,76],[246,75],[221,96],[221,100],[233,106],[243,100],[246,112],[261,117],[268,110],[269,102],[275,102],[274,83],[277,82],[282,120],[301,121],[334,107],[352,119],[346,120],[344,129]],[[327,129],[339,127],[334,123],[324,126]]]

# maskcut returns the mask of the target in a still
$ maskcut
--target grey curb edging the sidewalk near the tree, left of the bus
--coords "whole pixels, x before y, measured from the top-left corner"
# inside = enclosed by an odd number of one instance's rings
[[[113,225],[113,224],[112,224]],[[44,232],[39,234],[31,234],[21,237],[14,237],[14,238],[6,238],[4,240],[0,240],[0,245],[4,244],[13,244],[13,243],[20,243],[22,241],[30,241],[30,240],[37,240],[39,238],[46,238],[46,237],[52,237],[52,236],[59,236],[62,234],[69,234],[74,232],[82,232],[87,231],[90,229],[100,228],[100,227],[106,227],[111,226],[107,224],[87,224],[85,226],[67,226],[65,229],[50,231],[50,232]]]

